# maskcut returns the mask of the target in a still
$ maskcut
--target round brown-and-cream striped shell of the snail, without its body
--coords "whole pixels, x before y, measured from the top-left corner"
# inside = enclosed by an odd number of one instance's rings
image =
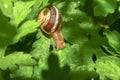
[[[61,14],[55,6],[46,7],[38,15],[41,29],[47,34],[53,34],[61,28]]]

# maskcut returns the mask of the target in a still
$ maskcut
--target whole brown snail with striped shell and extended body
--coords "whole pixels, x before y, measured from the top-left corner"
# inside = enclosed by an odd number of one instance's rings
[[[65,41],[61,33],[61,13],[55,6],[47,6],[38,14],[38,21],[43,32],[50,35],[57,49],[65,47]]]

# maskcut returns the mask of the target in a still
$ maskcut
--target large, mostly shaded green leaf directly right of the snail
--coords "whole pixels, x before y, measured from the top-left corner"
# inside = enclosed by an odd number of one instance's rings
[[[97,58],[105,55],[100,45],[106,45],[107,39],[99,35],[100,24],[95,25],[87,13],[77,8],[76,2],[70,3],[65,5],[66,10],[63,9],[62,33],[72,45],[66,45],[64,50],[56,53],[59,54],[60,63],[69,64],[73,70],[93,70],[92,57],[94,54]]]

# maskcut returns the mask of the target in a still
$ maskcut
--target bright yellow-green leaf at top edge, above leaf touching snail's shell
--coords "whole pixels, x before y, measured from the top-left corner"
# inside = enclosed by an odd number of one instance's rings
[[[13,18],[11,22],[17,27],[21,21],[23,21],[26,16],[31,11],[31,6],[33,6],[34,1],[17,1],[14,4],[13,8]]]

